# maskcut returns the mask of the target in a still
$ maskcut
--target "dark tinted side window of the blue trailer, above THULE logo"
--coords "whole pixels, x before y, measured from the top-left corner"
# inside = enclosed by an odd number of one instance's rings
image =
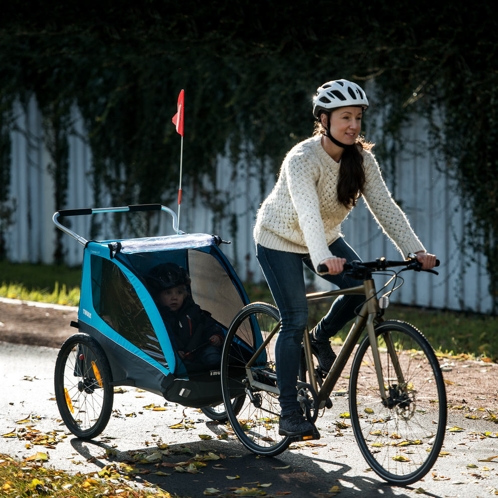
[[[114,262],[91,256],[93,309],[118,334],[168,367],[156,333],[130,280]]]

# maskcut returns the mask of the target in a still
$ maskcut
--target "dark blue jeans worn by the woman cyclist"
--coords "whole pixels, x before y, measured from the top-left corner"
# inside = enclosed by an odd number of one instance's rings
[[[347,261],[360,259],[353,249],[338,239],[329,246],[330,252]],[[275,344],[275,362],[278,387],[280,389],[281,414],[286,415],[299,408],[296,379],[301,359],[303,333],[308,325],[308,302],[303,275],[303,263],[313,272],[309,254],[276,251],[257,244],[257,258],[280,312],[280,333]],[[362,285],[362,280],[353,280],[339,275],[320,275],[339,288]],[[337,334],[356,315],[355,308],[365,301],[362,295],[341,295],[332,304],[327,315],[317,325],[318,339],[327,340]]]

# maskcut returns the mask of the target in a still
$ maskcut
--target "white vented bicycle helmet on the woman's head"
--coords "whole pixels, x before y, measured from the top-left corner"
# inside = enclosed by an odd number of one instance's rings
[[[363,89],[347,79],[328,81],[317,88],[317,95],[313,98],[313,116],[318,118],[322,110],[329,112],[347,106],[361,106],[363,111],[368,107]]]

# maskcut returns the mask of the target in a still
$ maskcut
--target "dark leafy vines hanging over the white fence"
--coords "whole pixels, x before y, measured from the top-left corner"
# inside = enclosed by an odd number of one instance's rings
[[[223,217],[226,202],[196,181],[214,178],[217,155],[228,144],[234,167],[245,156],[260,178],[276,171],[312,132],[318,84],[347,78],[375,87],[368,114],[383,118],[376,154],[389,167],[401,127],[414,114],[429,119],[434,157],[472,213],[466,247],[487,257],[496,311],[496,25],[490,3],[463,1],[10,2],[0,21],[0,215],[5,223],[16,98],[35,94],[42,109],[59,209],[74,104],[89,133],[95,203],[103,185],[115,205],[168,203],[179,157],[171,117],[184,88],[185,181]],[[374,120],[365,122],[368,138]]]

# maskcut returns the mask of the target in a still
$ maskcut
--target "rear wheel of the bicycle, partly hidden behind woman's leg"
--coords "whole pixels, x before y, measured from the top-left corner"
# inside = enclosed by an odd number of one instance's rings
[[[280,454],[289,446],[290,438],[278,434],[278,396],[266,390],[249,389],[245,365],[261,344],[261,337],[264,339],[279,322],[280,316],[274,306],[252,303],[242,308],[228,330],[221,361],[223,400],[230,425],[247,449],[264,456]],[[276,386],[273,345],[274,340],[268,343],[251,371],[254,378]],[[233,400],[245,395],[246,388],[254,401],[249,395],[245,396],[237,415]]]

